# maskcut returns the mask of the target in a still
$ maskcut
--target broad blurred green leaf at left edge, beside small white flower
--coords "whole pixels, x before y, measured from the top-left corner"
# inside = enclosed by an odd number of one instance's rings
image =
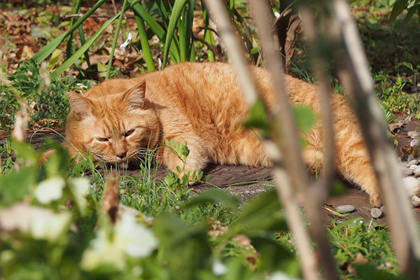
[[[7,207],[22,201],[35,188],[40,171],[38,167],[23,167],[17,172],[0,175],[0,205]]]

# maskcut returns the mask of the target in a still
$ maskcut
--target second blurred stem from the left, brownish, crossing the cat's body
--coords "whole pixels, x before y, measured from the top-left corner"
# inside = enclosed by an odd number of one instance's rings
[[[297,140],[299,137],[290,106],[288,105],[290,102],[283,84],[281,57],[276,51],[276,47],[273,42],[272,32],[270,31],[267,16],[267,7],[265,7],[264,2],[259,0],[251,0],[251,6],[253,8],[255,22],[258,27],[261,45],[263,46],[262,51],[264,52],[265,64],[273,76],[276,77],[273,82],[278,100],[277,104],[274,105],[272,114],[275,120],[281,121],[283,135],[287,135],[287,137],[279,139],[279,143],[281,143],[281,151],[286,158],[284,161],[286,170],[288,171],[288,174],[290,174],[295,188],[304,196],[304,207],[307,209],[309,223],[311,223],[311,232],[317,244],[316,250],[319,255],[322,255],[322,258],[319,260],[322,263],[325,279],[338,279],[335,261],[332,257],[330,243],[325,230],[325,225],[323,224],[321,200],[319,199],[319,195],[316,195],[313,191],[309,191],[309,188],[307,188],[309,186],[309,178],[306,174],[306,169],[304,168],[301,156],[302,153],[300,151],[299,141]],[[326,92],[323,97],[325,102],[324,106],[329,106],[330,100],[328,99],[328,87],[326,89],[324,88],[323,91]],[[327,132],[331,134],[329,137],[333,137],[331,119],[331,116],[323,114],[323,120],[326,121],[326,123],[329,122],[328,125],[330,125],[330,127],[327,128]],[[319,188],[325,189],[325,186],[318,186],[318,184],[316,184],[315,187],[316,190]],[[311,186],[311,189],[315,190],[314,186]]]

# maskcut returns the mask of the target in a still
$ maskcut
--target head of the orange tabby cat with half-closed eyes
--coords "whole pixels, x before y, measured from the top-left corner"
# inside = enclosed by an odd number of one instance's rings
[[[156,146],[160,123],[145,97],[145,82],[128,89],[113,83],[118,81],[105,82],[83,95],[67,94],[71,110],[66,137],[81,151],[90,151],[94,160],[121,164]]]

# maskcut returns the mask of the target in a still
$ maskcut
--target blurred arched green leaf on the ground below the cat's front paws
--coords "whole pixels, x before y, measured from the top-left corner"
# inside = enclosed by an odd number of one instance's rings
[[[225,207],[236,210],[239,205],[239,200],[235,195],[231,195],[225,190],[211,188],[209,190],[204,190],[204,192],[199,195],[195,195],[195,197],[191,198],[186,204],[183,204],[181,210],[205,203],[221,203]]]

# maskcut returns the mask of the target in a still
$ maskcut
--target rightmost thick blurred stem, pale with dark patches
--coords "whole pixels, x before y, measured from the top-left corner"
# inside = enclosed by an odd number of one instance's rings
[[[337,40],[344,41],[346,46],[346,50],[335,53],[339,77],[355,106],[378,176],[395,253],[402,272],[409,279],[419,279],[419,269],[416,266],[416,261],[420,259],[418,228],[405,188],[402,188],[395,152],[386,141],[386,123],[374,95],[373,81],[357,27],[346,1],[333,1],[331,9],[335,19],[330,23],[329,33],[334,34]]]

